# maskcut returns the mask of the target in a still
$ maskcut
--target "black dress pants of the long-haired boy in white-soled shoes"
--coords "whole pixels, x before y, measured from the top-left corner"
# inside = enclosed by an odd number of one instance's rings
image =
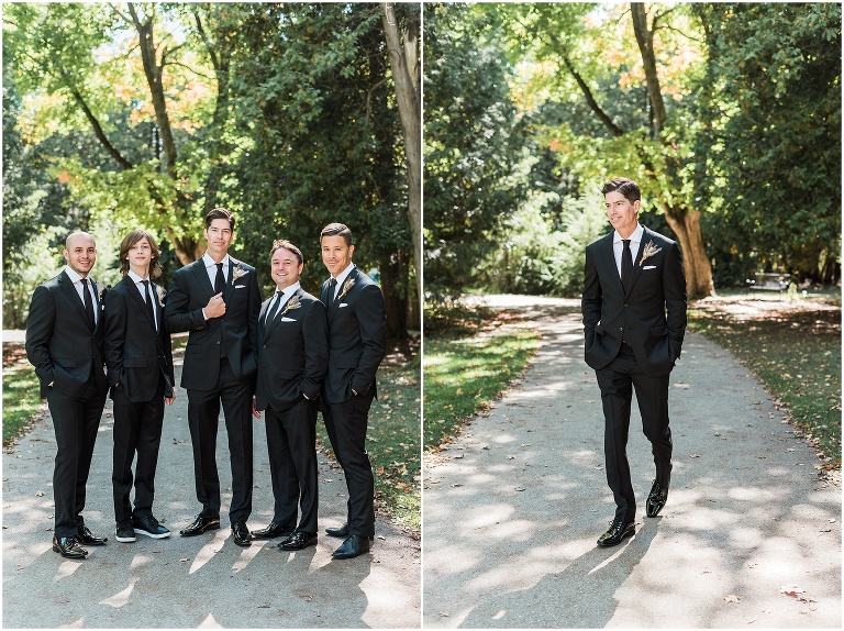
[[[114,518],[118,523],[133,514],[153,514],[155,469],[164,424],[164,378],[159,379],[155,396],[148,401],[133,403],[118,388],[113,395],[114,451],[111,484],[114,490]],[[129,500],[132,490],[132,461],[135,466],[135,508]]]

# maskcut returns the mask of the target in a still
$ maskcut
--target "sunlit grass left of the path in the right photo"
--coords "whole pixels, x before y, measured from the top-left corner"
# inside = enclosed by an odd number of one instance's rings
[[[538,333],[507,313],[475,313],[473,321],[425,334],[425,450],[449,440],[484,413],[519,377],[538,347]]]

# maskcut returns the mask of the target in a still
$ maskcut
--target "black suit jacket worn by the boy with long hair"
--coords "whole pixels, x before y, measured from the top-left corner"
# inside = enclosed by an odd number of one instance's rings
[[[106,367],[111,397],[120,384],[133,403],[151,400],[164,376],[165,396],[173,396],[170,334],[164,326],[164,289],[151,284],[158,331],[137,285],[129,276],[109,291],[104,302]]]

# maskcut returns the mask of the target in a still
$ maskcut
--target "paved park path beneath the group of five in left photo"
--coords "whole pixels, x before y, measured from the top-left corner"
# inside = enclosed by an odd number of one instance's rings
[[[180,372],[180,361],[176,369]],[[51,547],[56,441],[49,416],[19,440],[13,453],[3,454],[3,628],[419,628],[418,541],[378,519],[370,554],[332,560],[341,540],[322,531],[344,521],[346,488],[342,469],[323,454],[318,545],[291,553],[276,547],[279,540],[237,547],[226,516],[231,469],[221,418],[216,460],[222,528],[179,536],[178,530],[199,511],[181,388],[165,416],[154,507],[174,535],[118,543],[111,494],[113,427],[109,401],[85,510],[86,523],[108,534],[109,543],[89,547],[86,561],[63,560]],[[251,529],[273,517],[264,421],[256,421],[254,429]]]

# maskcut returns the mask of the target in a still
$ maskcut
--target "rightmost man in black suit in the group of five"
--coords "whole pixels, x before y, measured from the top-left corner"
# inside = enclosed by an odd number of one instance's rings
[[[387,352],[387,314],[381,290],[352,263],[352,231],[331,223],[320,233],[320,246],[331,274],[320,297],[327,308],[330,346],[322,416],[348,490],[346,523],[325,532],[345,538],[335,558],[353,558],[368,552],[375,538],[375,480],[366,428],[377,396],[375,374]]]

